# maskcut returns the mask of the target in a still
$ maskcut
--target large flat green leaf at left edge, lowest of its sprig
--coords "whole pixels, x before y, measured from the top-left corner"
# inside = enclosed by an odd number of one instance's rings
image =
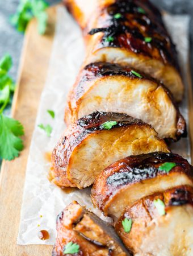
[[[23,141],[19,137],[24,134],[22,124],[12,118],[0,114],[0,156],[12,160],[23,149]]]

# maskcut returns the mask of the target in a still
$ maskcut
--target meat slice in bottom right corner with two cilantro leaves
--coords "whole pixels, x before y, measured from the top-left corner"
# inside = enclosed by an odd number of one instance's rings
[[[165,204],[164,215],[160,215],[155,207],[154,200],[158,199]],[[132,220],[128,233],[122,225],[125,218]],[[192,256],[192,187],[176,187],[136,201],[125,208],[115,229],[135,256]]]

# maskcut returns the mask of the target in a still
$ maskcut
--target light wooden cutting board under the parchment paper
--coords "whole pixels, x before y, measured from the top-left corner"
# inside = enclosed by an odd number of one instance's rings
[[[28,152],[52,51],[56,6],[48,9],[48,15],[47,34],[38,35],[36,20],[32,20],[24,39],[18,88],[12,106],[12,116],[22,122],[25,129],[24,150],[19,158],[2,163],[0,176],[0,256],[49,256],[52,251],[52,246],[48,245],[16,245]],[[193,120],[190,72],[188,81],[190,120]],[[193,136],[193,122],[190,123],[189,133]],[[193,152],[191,156],[193,160]]]

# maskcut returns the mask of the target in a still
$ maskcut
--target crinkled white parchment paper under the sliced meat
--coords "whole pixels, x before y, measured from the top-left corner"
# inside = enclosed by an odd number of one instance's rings
[[[186,82],[189,18],[188,16],[166,15],[165,21],[168,24],[174,42],[177,44],[179,63]],[[99,210],[91,205],[89,188],[67,193],[50,183],[47,178],[51,163],[45,159],[45,153],[52,151],[62,131],[65,129],[64,107],[66,96],[75,81],[83,56],[84,46],[79,27],[64,7],[58,7],[56,35],[49,63],[48,77],[41,96],[27,163],[18,234],[18,243],[20,245],[41,243],[52,245],[56,238],[56,216],[72,200],[77,200],[79,203],[87,205],[87,208],[92,209],[98,216],[103,217]],[[55,112],[54,119],[47,113],[48,109],[52,109]],[[187,93],[181,110],[187,120]],[[51,138],[48,138],[44,131],[37,127],[40,123],[44,125],[49,123],[53,127]],[[188,139],[182,139],[178,142],[174,147],[174,151],[190,159]],[[37,237],[37,232],[42,229],[48,230],[50,234],[49,240],[41,241]]]

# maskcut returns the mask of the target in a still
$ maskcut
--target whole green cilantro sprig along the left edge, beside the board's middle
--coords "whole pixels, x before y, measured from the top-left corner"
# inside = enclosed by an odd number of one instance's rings
[[[3,110],[11,100],[15,83],[9,76],[12,67],[12,58],[5,54],[0,60],[0,158],[12,160],[19,156],[23,149],[23,141],[20,138],[24,135],[22,124],[3,114]]]

